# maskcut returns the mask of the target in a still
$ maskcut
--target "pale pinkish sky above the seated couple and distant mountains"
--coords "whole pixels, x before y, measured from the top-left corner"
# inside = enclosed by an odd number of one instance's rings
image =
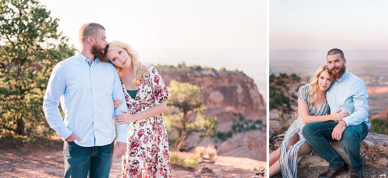
[[[270,50],[387,50],[387,0],[270,0]]]

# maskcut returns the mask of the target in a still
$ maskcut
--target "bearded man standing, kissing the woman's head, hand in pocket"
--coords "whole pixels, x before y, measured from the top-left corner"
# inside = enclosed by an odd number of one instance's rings
[[[64,177],[108,178],[113,151],[118,151],[117,158],[126,152],[130,124],[117,124],[114,146],[114,118],[127,108],[114,109],[112,101],[125,100],[125,96],[113,64],[100,62],[108,44],[105,28],[86,23],[78,37],[81,50],[59,62],[51,73],[43,111],[50,127],[64,140]]]

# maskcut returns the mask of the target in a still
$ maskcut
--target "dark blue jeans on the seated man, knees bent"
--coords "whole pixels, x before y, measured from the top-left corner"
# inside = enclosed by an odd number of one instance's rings
[[[338,154],[329,142],[334,142],[331,137],[334,127],[338,123],[334,121],[307,123],[302,130],[308,144],[327,162],[329,170],[341,168],[346,162]],[[365,123],[357,126],[348,126],[342,133],[340,140],[345,153],[350,159],[350,169],[360,171],[362,169],[362,157],[360,156],[361,141],[368,135],[369,128]]]

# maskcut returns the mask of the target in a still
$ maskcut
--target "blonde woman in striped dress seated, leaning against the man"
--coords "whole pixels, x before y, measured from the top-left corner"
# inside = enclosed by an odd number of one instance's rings
[[[284,178],[296,178],[298,161],[303,156],[311,156],[313,149],[302,135],[306,123],[339,121],[347,112],[326,115],[329,105],[326,101],[326,90],[333,83],[327,65],[320,66],[312,78],[298,91],[298,118],[288,128],[279,149],[269,155],[269,176],[282,173]]]

